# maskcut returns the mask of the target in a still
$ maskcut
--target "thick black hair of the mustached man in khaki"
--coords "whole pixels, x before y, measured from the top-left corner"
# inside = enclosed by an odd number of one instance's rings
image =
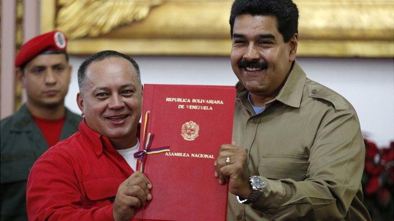
[[[243,14],[275,16],[278,31],[285,42],[298,33],[298,8],[291,0],[235,0],[230,14],[231,37],[235,17]]]

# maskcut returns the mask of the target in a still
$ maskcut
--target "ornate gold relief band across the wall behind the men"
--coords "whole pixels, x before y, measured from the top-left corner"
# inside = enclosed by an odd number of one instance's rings
[[[393,57],[394,0],[294,0],[299,56]],[[70,54],[228,56],[232,0],[42,0],[42,31]]]

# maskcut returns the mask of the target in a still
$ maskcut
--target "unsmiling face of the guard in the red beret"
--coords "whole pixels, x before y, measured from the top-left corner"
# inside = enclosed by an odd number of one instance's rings
[[[71,67],[64,54],[41,54],[26,64],[17,78],[26,89],[29,105],[54,107],[64,104]]]

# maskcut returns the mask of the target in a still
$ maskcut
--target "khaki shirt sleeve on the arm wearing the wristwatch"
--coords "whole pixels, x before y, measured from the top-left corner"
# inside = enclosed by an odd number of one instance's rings
[[[364,158],[357,116],[351,111],[334,113],[317,131],[305,179],[261,177],[266,188],[252,208],[273,220],[342,220],[361,187]]]

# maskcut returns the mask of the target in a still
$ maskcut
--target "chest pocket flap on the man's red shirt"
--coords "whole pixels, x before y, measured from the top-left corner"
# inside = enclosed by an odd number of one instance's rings
[[[88,198],[95,201],[115,196],[119,185],[121,185],[125,180],[126,178],[119,176],[110,176],[87,180],[83,182],[83,185]]]

